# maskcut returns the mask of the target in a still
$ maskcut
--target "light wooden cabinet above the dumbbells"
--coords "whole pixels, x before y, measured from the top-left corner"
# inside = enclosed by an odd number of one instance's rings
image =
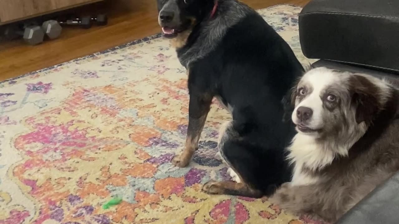
[[[101,0],[0,0],[0,23],[13,22]]]

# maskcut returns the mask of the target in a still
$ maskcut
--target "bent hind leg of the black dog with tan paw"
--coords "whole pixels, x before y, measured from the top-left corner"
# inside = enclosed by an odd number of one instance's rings
[[[290,180],[284,149],[264,149],[246,144],[232,125],[226,127],[219,141],[219,151],[240,183],[209,182],[203,186],[203,191],[258,198],[272,195],[282,183]]]

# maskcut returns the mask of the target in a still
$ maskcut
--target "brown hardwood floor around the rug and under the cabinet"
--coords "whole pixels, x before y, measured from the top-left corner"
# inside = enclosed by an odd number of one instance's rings
[[[260,9],[277,4],[303,6],[309,0],[242,0]],[[107,12],[109,24],[91,29],[63,28],[59,39],[36,46],[22,40],[0,42],[0,81],[102,51],[160,32],[156,0],[107,0],[78,12]],[[79,15],[79,14],[78,14]]]

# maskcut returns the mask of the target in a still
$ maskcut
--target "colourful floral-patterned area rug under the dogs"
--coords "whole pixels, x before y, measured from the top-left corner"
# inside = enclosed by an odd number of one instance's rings
[[[260,10],[304,64],[301,8]],[[189,167],[186,71],[155,35],[0,83],[0,224],[314,224],[267,198],[209,196],[228,179],[214,155],[229,119],[213,104]],[[273,170],[269,171],[273,172]],[[109,209],[113,197],[123,201]]]

